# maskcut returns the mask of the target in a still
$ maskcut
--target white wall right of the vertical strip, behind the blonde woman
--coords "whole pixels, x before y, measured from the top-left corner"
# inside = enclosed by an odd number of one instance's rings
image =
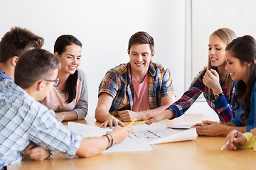
[[[196,76],[208,61],[208,38],[218,28],[230,28],[256,38],[255,0],[192,1],[192,71]]]

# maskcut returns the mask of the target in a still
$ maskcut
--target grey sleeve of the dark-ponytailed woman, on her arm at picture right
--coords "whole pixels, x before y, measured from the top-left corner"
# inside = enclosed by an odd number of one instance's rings
[[[88,88],[85,73],[82,70],[78,70],[78,79],[82,81],[82,89],[78,104],[75,106],[73,111],[78,114],[78,120],[84,119],[88,111]]]

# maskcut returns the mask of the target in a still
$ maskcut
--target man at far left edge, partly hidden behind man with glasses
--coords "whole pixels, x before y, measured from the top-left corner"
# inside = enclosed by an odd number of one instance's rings
[[[14,68],[18,57],[26,50],[41,48],[43,38],[25,28],[14,27],[0,42],[0,81],[14,80]]]

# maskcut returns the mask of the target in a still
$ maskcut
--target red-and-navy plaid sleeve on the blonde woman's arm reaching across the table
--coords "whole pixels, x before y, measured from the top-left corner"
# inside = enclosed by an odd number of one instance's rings
[[[204,74],[201,74],[200,77],[195,77],[191,83],[191,86],[188,90],[181,96],[181,98],[169,106],[169,110],[174,111],[175,115],[174,118],[179,117],[185,113],[188,108],[190,108],[196,99],[202,94],[203,92],[203,81],[202,77]]]

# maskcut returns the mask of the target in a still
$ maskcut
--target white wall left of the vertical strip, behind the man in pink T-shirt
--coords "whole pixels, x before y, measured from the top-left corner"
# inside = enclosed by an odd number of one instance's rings
[[[0,18],[0,37],[12,26],[28,28],[45,38],[43,48],[50,52],[63,34],[82,42],[80,68],[87,75],[90,115],[102,77],[129,61],[128,41],[139,30],[154,38],[153,61],[169,67],[176,96],[183,94],[185,0],[10,0],[0,2]]]

